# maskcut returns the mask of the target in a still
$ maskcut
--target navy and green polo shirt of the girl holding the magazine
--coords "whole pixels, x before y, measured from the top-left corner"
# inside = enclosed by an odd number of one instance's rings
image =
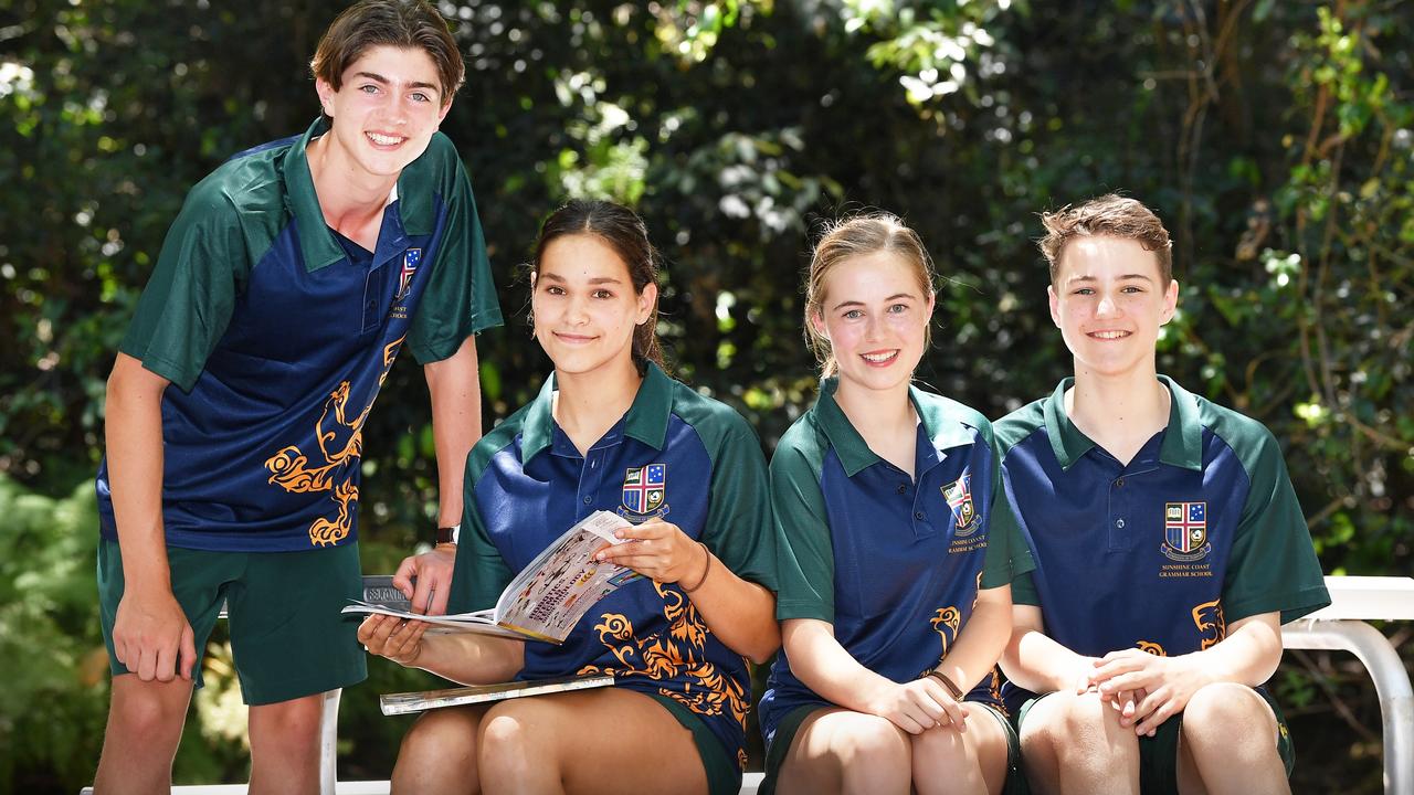
[[[554,379],[472,448],[451,611],[495,605],[502,588],[594,511],[660,516],[737,576],[775,590],[766,465],[751,426],[649,365],[628,413],[581,455],[556,424]],[[676,586],[638,579],[595,604],[563,645],[527,642],[520,679],[612,673],[670,699],[745,764],[751,678]]]

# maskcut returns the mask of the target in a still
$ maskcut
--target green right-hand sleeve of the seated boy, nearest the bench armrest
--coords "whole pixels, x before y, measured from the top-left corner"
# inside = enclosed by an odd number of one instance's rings
[[[1331,594],[1281,448],[1266,427],[1253,436],[1253,453],[1243,455],[1251,488],[1233,538],[1223,613],[1232,624],[1280,611],[1285,624],[1331,604]]]

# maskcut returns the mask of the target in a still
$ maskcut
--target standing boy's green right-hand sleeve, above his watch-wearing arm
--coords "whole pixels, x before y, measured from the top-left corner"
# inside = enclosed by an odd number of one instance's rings
[[[451,146],[447,146],[451,150]],[[431,282],[413,315],[409,349],[420,364],[437,362],[455,354],[462,341],[485,328],[501,325],[501,304],[491,279],[491,259],[481,232],[477,199],[467,168],[452,150],[444,168],[447,208]]]

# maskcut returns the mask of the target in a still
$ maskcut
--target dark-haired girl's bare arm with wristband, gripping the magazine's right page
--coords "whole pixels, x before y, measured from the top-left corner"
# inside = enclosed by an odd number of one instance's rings
[[[653,519],[618,530],[618,536],[635,543],[605,547],[598,559],[628,566],[659,583],[677,583],[728,648],[761,665],[781,646],[776,596],[738,577],[677,525]]]

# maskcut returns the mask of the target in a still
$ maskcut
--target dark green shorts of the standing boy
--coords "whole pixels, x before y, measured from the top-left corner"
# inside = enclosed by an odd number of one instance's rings
[[[197,644],[192,679],[201,687],[201,656],[226,604],[230,651],[247,704],[273,704],[362,682],[358,621],[339,614],[362,596],[358,545],[308,552],[205,552],[168,546],[173,594]],[[116,542],[98,547],[103,642],[113,676],[127,673],[113,649],[113,622],[123,597],[123,556]]]

